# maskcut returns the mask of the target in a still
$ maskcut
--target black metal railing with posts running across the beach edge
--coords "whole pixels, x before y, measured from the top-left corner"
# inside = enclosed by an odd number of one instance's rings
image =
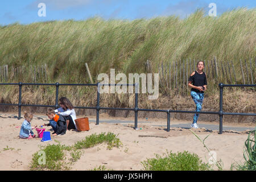
[[[222,134],[222,118],[223,115],[251,115],[256,116],[255,113],[225,113],[223,111],[223,89],[224,87],[255,87],[256,85],[225,85],[220,83],[218,86],[220,88],[220,110],[219,111],[187,111],[187,110],[161,110],[161,109],[140,109],[138,107],[138,89],[139,85],[137,83],[135,84],[100,84],[99,82],[97,84],[60,84],[59,82],[56,82],[55,84],[31,84],[31,83],[10,83],[10,84],[2,84],[0,85],[18,85],[19,86],[19,103],[18,104],[0,104],[0,105],[6,105],[6,106],[18,106],[18,119],[20,119],[21,115],[21,107],[22,106],[31,106],[31,107],[59,107],[58,105],[58,97],[59,97],[59,86],[97,86],[97,105],[95,107],[84,107],[84,106],[75,106],[76,109],[96,109],[96,125],[100,124],[100,110],[133,110],[134,111],[134,129],[138,127],[138,111],[153,111],[153,112],[163,112],[167,113],[167,131],[170,131],[170,122],[171,122],[171,113],[196,113],[196,114],[217,114],[220,118],[220,130],[219,134]],[[22,85],[48,85],[48,86],[56,86],[56,94],[55,94],[55,105],[31,105],[31,104],[22,104]],[[117,107],[101,107],[100,106],[100,92],[99,88],[100,86],[135,86],[135,106],[134,108],[117,108]]]

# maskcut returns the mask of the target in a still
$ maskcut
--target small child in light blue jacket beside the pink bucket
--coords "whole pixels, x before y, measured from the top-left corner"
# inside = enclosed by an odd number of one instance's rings
[[[35,138],[36,135],[33,133],[32,129],[35,129],[37,126],[31,127],[31,121],[33,119],[32,113],[27,113],[24,111],[25,120],[20,127],[19,138],[30,139]]]

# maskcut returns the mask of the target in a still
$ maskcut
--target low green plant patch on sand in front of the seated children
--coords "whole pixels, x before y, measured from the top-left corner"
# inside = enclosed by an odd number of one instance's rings
[[[72,163],[77,162],[81,158],[83,151],[81,149],[94,147],[97,144],[106,142],[107,148],[112,150],[113,147],[122,146],[122,142],[113,133],[100,133],[92,134],[85,137],[84,140],[78,141],[72,146],[61,145],[59,141],[55,140],[58,144],[48,144],[47,146],[40,146],[40,151],[36,152],[32,156],[32,162],[30,164],[30,170],[68,170]],[[41,152],[45,154],[45,163],[39,163]],[[66,162],[68,153],[71,158],[69,162]],[[101,168],[100,168],[101,169]]]

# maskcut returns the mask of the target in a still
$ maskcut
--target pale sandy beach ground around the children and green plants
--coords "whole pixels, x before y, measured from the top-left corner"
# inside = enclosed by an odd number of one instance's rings
[[[78,116],[81,118],[84,116]],[[121,140],[123,146],[119,148],[107,149],[107,144],[83,150],[81,158],[72,166],[71,170],[90,170],[99,166],[105,166],[113,170],[142,170],[141,162],[147,158],[154,158],[155,154],[166,154],[166,151],[183,152],[189,151],[197,154],[203,162],[207,163],[210,156],[203,143],[192,134],[189,129],[171,128],[170,132],[166,131],[166,119],[148,118],[148,122],[140,123],[138,127],[142,130],[134,130],[133,123],[104,123],[96,125],[90,119],[96,119],[95,116],[89,118],[89,131],[67,131],[65,135],[52,137],[51,142],[40,142],[41,138],[19,139],[19,131],[24,118],[18,120],[17,115],[1,114],[0,117],[0,170],[29,170],[32,155],[39,151],[39,146],[47,144],[72,145],[75,142],[84,139],[91,134],[100,134],[102,132],[112,132]],[[110,119],[108,114],[101,114],[100,119]],[[111,118],[122,121],[133,120],[133,118]],[[172,123],[189,123],[190,121],[180,121],[172,119]],[[42,125],[48,123],[46,116],[35,115],[32,125]],[[204,122],[201,122],[204,123]],[[207,123],[207,122],[205,122]],[[217,122],[216,122],[217,124]],[[199,123],[200,125],[200,123]],[[255,124],[232,124],[230,126],[254,127]],[[45,127],[49,131],[51,127]],[[217,160],[222,160],[224,170],[230,170],[233,163],[243,162],[244,142],[247,139],[248,131],[224,131],[218,134],[218,131],[204,128],[192,129],[201,139],[210,136],[205,140],[205,144],[211,150],[216,152]],[[34,133],[36,131],[34,130]],[[52,132],[51,132],[52,133]],[[214,167],[217,170],[217,167]]]

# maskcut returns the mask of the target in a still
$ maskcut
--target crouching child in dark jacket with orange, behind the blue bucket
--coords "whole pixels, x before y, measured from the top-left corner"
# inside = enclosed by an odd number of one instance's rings
[[[53,136],[56,135],[64,135],[67,131],[67,123],[62,115],[55,114],[55,111],[51,108],[47,110],[46,115],[48,116],[49,121],[48,124],[44,124],[43,126],[52,126]]]

